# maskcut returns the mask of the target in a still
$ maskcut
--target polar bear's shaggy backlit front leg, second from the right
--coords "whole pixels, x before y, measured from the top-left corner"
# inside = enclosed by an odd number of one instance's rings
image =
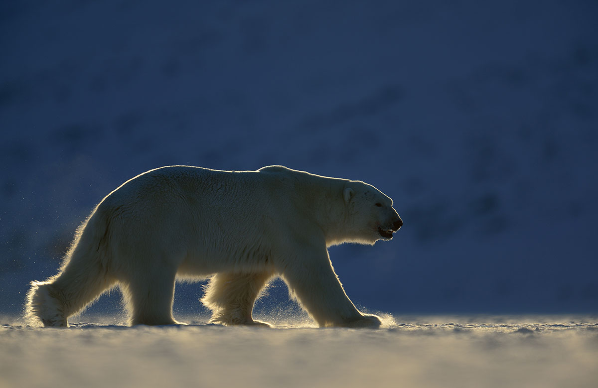
[[[202,303],[212,310],[210,323],[223,325],[260,325],[266,322],[254,320],[252,310],[271,273],[219,273],[206,287]]]

